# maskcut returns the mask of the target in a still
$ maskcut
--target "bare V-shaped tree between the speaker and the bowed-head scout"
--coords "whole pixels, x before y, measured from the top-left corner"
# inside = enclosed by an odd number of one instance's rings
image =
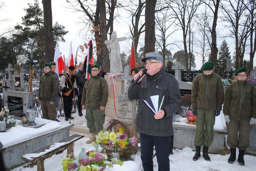
[[[189,25],[192,22],[196,11],[201,4],[200,0],[171,0],[166,1],[174,12],[176,25],[180,27],[183,33],[183,45],[185,51],[186,70],[189,70],[189,58],[187,52],[187,33]]]

